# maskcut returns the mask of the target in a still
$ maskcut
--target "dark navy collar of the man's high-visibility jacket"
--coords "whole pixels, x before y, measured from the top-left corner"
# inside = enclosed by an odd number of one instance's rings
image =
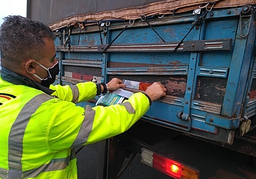
[[[4,81],[7,81],[9,83],[12,83],[14,85],[25,85],[28,87],[32,87],[34,89],[38,89],[41,90],[43,92],[45,92],[46,94],[52,94],[54,92],[54,90],[51,90],[47,87],[44,87],[43,85],[41,85],[40,83],[37,83],[36,81],[32,81],[22,75],[18,75],[17,73],[14,73],[13,71],[8,70],[7,68],[1,66],[1,78]]]

